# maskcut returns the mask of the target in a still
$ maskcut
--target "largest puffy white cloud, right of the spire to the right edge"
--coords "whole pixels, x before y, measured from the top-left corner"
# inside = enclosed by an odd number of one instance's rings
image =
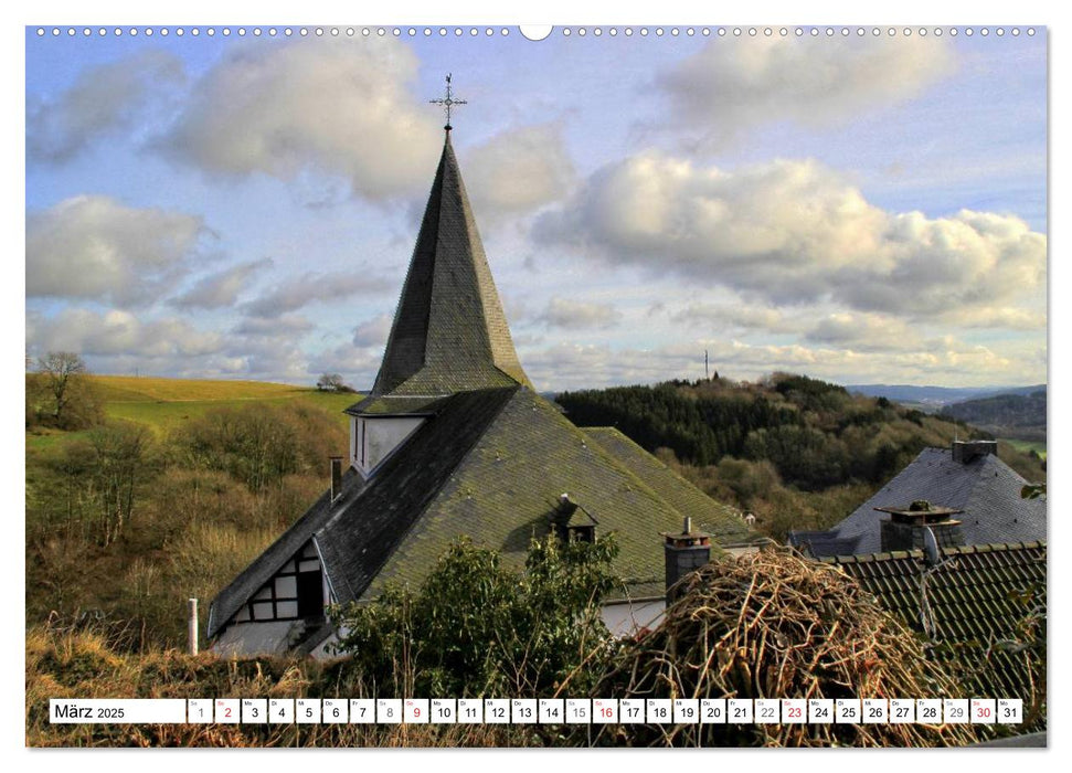
[[[1046,235],[1019,218],[893,214],[815,161],[724,171],[647,153],[595,172],[537,235],[760,298],[943,319],[1037,313]],[[1005,313],[1007,316],[1007,313]]]

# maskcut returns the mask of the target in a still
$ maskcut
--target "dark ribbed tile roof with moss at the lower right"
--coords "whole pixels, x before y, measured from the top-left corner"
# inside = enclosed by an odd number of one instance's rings
[[[1046,542],[943,548],[926,578],[926,599],[940,647],[975,679],[983,698],[1028,699],[1022,655],[1004,647],[1020,635],[1018,624],[1032,608],[1046,614]],[[930,569],[923,551],[895,551],[824,559],[874,594],[883,607],[925,633],[921,582]],[[938,697],[938,696],[934,696]]]

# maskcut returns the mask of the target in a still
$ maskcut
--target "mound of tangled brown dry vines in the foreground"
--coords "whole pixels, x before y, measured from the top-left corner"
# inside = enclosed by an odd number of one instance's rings
[[[832,566],[779,550],[682,581],[656,631],[627,644],[593,695],[630,698],[960,698],[922,642]],[[944,746],[970,724],[603,726],[598,744]]]

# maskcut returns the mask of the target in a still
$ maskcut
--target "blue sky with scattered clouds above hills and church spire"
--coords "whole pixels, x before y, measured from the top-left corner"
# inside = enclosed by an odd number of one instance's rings
[[[36,29],[31,357],[370,386],[453,73],[538,389],[1047,381],[1044,28]]]

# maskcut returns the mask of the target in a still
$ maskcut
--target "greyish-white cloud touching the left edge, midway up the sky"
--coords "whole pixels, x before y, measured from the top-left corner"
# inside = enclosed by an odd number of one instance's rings
[[[26,215],[26,295],[130,305],[160,294],[209,235],[201,218],[78,195]]]

